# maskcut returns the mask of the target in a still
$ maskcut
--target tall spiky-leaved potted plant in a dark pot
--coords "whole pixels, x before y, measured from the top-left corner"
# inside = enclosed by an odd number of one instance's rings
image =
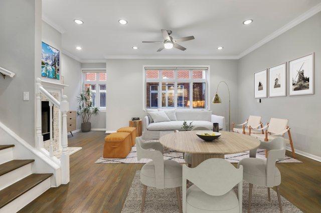
[[[77,101],[79,103],[79,106],[77,109],[77,115],[81,116],[81,119],[82,119],[81,131],[83,132],[90,131],[91,129],[91,122],[90,122],[91,115],[99,114],[98,107],[93,106],[91,96],[92,96],[91,90],[88,87],[85,90],[83,90],[77,97]]]

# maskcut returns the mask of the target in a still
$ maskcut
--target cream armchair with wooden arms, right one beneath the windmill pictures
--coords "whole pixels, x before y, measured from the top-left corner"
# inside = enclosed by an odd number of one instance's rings
[[[292,141],[292,136],[290,132],[290,127],[288,126],[288,119],[282,119],[282,118],[274,118],[271,117],[270,122],[268,122],[265,126],[262,128],[256,129],[256,130],[264,130],[262,133],[253,133],[251,136],[256,137],[257,139],[261,141],[270,141],[276,137],[283,137],[284,134],[287,132],[287,135],[289,138],[284,138],[285,142],[287,144],[290,144],[291,150],[292,150],[292,157],[295,158],[295,152],[294,152],[294,146]]]

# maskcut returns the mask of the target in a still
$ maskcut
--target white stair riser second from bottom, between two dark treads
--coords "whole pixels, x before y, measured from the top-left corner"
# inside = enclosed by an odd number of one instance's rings
[[[32,173],[31,163],[27,165],[21,166],[13,171],[10,171],[4,175],[0,176],[0,190],[4,189],[5,187],[25,178],[26,176]]]

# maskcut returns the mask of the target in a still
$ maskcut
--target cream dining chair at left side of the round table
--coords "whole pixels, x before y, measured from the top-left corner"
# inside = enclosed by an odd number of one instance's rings
[[[148,158],[140,169],[140,181],[143,184],[141,212],[144,210],[147,186],[156,188],[176,188],[180,212],[182,212],[181,190],[182,164],[174,160],[164,160],[163,145],[159,142],[142,142],[136,137],[137,159]],[[153,150],[150,150],[153,149]]]

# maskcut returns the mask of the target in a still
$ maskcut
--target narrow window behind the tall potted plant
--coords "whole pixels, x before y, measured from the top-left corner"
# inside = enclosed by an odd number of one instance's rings
[[[100,110],[106,109],[106,71],[84,71],[83,89],[90,88],[92,103]]]

